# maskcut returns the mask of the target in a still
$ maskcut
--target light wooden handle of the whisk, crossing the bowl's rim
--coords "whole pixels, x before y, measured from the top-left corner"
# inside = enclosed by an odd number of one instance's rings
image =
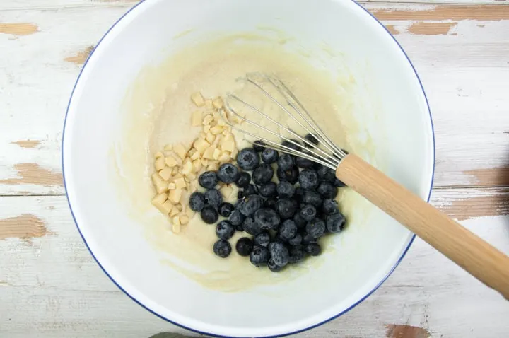
[[[509,300],[509,257],[355,155],[336,176]]]

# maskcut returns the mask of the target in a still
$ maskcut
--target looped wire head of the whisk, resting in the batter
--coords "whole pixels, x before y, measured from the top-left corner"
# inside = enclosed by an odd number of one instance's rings
[[[327,137],[310,112],[283,81],[276,76],[261,73],[250,73],[240,80],[245,81],[246,86],[253,86],[276,107],[276,110],[283,112],[283,115],[279,118],[275,117],[262,107],[257,107],[240,98],[237,94],[229,94],[224,100],[223,114],[228,112],[230,117],[235,116],[237,120],[245,122],[245,124],[242,123],[245,127],[241,127],[241,124],[233,124],[228,116],[225,116],[224,120],[230,127],[254,140],[263,141],[266,148],[306,158],[336,170],[339,162],[346,156],[346,151],[337,147]],[[247,108],[248,113],[241,114],[240,109],[234,107],[235,104]],[[261,120],[254,121],[255,116],[260,117]],[[281,122],[278,121],[280,119]],[[283,122],[285,119],[303,129],[304,133],[299,134],[291,129],[290,123]],[[248,127],[252,128],[248,130]],[[307,135],[303,136],[303,134]]]

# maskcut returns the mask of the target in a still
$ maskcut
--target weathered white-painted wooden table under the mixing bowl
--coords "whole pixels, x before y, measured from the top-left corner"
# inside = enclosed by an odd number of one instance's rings
[[[509,1],[415,1],[364,6],[426,88],[437,150],[431,202],[509,254]],[[134,3],[0,1],[0,337],[196,335],[107,279],[64,196],[69,94],[88,52]],[[509,337],[508,318],[508,301],[417,239],[373,296],[299,336]]]

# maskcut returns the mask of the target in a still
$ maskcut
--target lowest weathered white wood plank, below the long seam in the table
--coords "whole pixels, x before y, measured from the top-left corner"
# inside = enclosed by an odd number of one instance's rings
[[[475,204],[486,206],[484,211],[467,213],[477,217],[491,214],[488,205],[501,205],[508,195],[508,189],[441,189],[433,192],[432,202],[464,218],[462,210],[472,207],[464,201],[484,199]],[[507,206],[504,210],[506,216],[462,223],[509,253]],[[83,245],[65,197],[0,197],[0,220],[21,215],[37,219],[47,233],[0,240],[0,337],[149,337],[184,332],[147,313],[107,279]],[[19,225],[27,219],[20,219]],[[398,332],[415,331],[432,337],[480,337],[481,332],[504,337],[508,315],[507,301],[417,239],[373,296],[300,337],[400,337]]]

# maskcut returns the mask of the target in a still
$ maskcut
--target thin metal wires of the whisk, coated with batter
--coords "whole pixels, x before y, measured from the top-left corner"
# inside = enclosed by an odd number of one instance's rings
[[[279,92],[284,100],[286,100],[286,104],[291,107],[291,109],[294,111],[291,112],[287,109],[283,104],[281,104],[276,98],[274,98],[274,95],[271,95],[269,91],[267,91],[264,86],[262,86],[259,81],[256,81],[254,78],[262,78],[265,83],[269,83],[271,86],[273,86],[277,92]],[[304,144],[307,145],[305,151],[300,151],[291,148],[290,146],[285,146],[283,144],[280,144],[279,141],[272,141],[270,139],[267,139],[265,137],[261,137],[259,135],[253,134],[252,132],[248,132],[245,129],[242,129],[238,127],[238,125],[234,125],[228,120],[228,117],[224,117],[224,120],[226,120],[226,123],[230,125],[235,130],[238,130],[239,132],[242,132],[243,134],[246,134],[248,136],[252,136],[255,139],[259,139],[264,141],[267,148],[272,148],[276,151],[281,151],[283,153],[289,153],[294,156],[299,156],[302,158],[306,158],[310,161],[314,161],[317,163],[320,163],[322,165],[327,166],[328,168],[331,168],[335,170],[337,166],[339,165],[339,161],[341,161],[342,158],[346,156],[346,153],[342,151],[340,148],[338,148],[336,145],[330,141],[330,139],[324,134],[322,129],[317,126],[315,120],[313,120],[312,116],[308,112],[308,110],[305,109],[305,107],[300,103],[300,101],[296,98],[295,95],[288,89],[288,87],[281,81],[279,78],[275,78],[274,76],[268,76],[266,74],[259,74],[259,73],[253,73],[253,74],[247,74],[245,78],[242,78],[242,80],[246,81],[247,83],[252,84],[256,88],[258,88],[269,100],[271,100],[273,103],[275,103],[283,112],[288,115],[288,117],[291,117],[291,119],[296,122],[300,127],[302,127],[308,134],[312,134],[315,136],[315,139],[317,139],[318,144],[322,145],[324,149],[320,148],[316,144],[312,143],[308,139],[305,139],[303,136],[300,136],[296,132],[293,132],[292,129],[284,126],[283,124],[277,122],[274,120],[274,118],[270,117],[269,115],[262,112],[262,110],[259,110],[259,108],[254,107],[250,103],[247,103],[245,100],[242,100],[237,95],[230,94],[225,99],[225,108],[230,112],[231,114],[238,117],[240,120],[247,122],[254,127],[257,127],[258,129],[263,130],[264,132],[268,132],[271,135],[276,136],[278,139],[283,139],[287,141],[289,144],[293,144],[295,146],[298,146],[298,149],[302,149],[302,145],[298,142],[294,141],[293,139],[289,139],[286,136],[283,136],[277,132],[274,132],[273,130],[262,126],[261,124],[254,122],[250,119],[247,119],[246,117],[240,115],[235,109],[230,105],[230,100],[236,100],[245,107],[248,107],[253,112],[257,112],[257,114],[262,115],[265,119],[269,120],[272,124],[275,124],[277,127],[283,129],[285,132],[288,132],[289,134],[296,137],[296,139],[303,141]],[[223,111],[223,114],[225,114],[226,111]],[[303,120],[301,122],[298,117]],[[307,124],[307,125],[306,125]]]

